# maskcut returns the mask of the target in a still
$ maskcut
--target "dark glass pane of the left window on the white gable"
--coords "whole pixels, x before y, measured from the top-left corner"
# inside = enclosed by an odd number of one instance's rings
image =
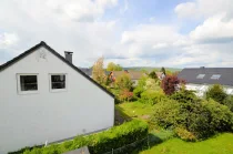
[[[21,91],[37,91],[38,78],[37,75],[20,75]]]

